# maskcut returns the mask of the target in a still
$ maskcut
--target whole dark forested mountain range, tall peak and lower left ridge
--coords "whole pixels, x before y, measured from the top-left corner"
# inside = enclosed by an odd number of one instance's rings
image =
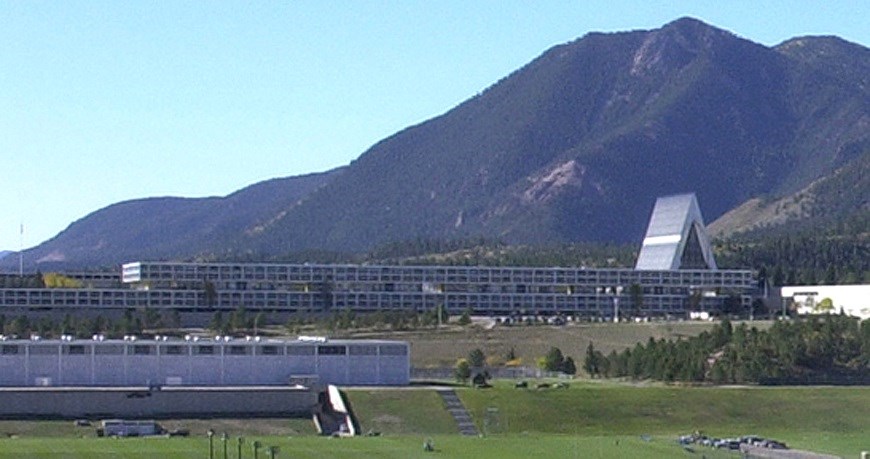
[[[799,193],[829,204],[798,219],[848,217],[867,211],[867,194],[846,185],[866,177],[868,69],[870,50],[835,37],[766,47],[691,18],[590,33],[305,193],[271,190],[252,213],[238,212],[244,190],[121,203],[28,258],[269,257],[469,237],[639,243],[655,198],[686,191],[708,221],[744,209],[718,222],[721,235],[762,218],[752,203]]]

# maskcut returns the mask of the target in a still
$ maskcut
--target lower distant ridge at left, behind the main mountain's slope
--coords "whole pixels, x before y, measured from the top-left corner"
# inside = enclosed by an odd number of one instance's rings
[[[27,251],[25,260],[45,271],[192,257],[221,247],[239,233],[257,233],[260,225],[292,211],[342,170],[267,180],[225,197],[120,202],[74,222]]]

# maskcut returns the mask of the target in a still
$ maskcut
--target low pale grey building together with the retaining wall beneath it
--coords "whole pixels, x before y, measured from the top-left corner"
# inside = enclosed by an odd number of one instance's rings
[[[0,418],[310,416],[325,387],[400,386],[402,341],[0,337]]]

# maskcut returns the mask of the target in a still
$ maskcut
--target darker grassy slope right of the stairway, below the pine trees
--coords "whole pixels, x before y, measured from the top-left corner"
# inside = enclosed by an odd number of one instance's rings
[[[504,383],[503,383],[504,384]],[[567,390],[463,389],[459,396],[480,428],[507,434],[581,436],[761,435],[799,449],[857,457],[870,450],[867,387],[632,387],[573,383]],[[495,419],[493,419],[495,417]]]

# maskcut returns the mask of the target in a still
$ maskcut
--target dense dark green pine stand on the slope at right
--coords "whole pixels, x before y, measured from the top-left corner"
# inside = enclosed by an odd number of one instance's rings
[[[592,377],[665,382],[764,383],[870,375],[870,320],[844,315],[777,321],[768,330],[727,319],[697,337],[638,343],[605,356],[589,343]]]

